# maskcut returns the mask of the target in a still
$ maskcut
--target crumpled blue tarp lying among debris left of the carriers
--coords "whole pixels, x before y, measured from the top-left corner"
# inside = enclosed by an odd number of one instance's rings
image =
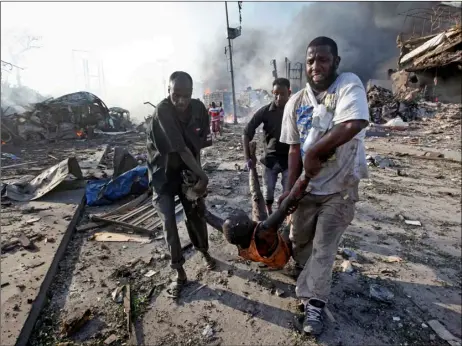
[[[148,168],[138,166],[115,179],[88,181],[85,191],[87,205],[111,204],[113,201],[131,194],[142,194],[148,187]]]

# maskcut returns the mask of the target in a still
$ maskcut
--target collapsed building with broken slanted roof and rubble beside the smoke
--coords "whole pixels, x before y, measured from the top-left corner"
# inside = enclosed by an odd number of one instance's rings
[[[397,37],[398,68],[388,71],[388,80],[370,80],[367,85],[371,119],[378,124],[397,116],[415,120],[428,109],[423,101],[461,102],[460,3],[440,3],[402,15],[405,23],[412,21],[413,31]]]

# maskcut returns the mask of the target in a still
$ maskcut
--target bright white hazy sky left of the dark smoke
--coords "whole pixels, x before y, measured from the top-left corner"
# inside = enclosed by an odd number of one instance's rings
[[[286,27],[306,4],[244,2],[242,35],[246,28]],[[230,26],[238,26],[237,2],[228,3],[228,9]],[[164,96],[163,74],[185,70],[200,81],[198,57],[205,46],[224,48],[225,31],[223,2],[1,4],[3,60],[12,60],[10,49],[21,50],[21,35],[41,37],[42,47],[18,61],[25,68],[24,85],[53,96],[84,90],[82,57],[88,59],[90,73],[96,73],[101,61],[105,92],[98,90],[96,79],[91,91],[108,106],[128,108],[138,117],[144,115],[144,101],[158,102]],[[15,82],[14,75],[8,78]]]

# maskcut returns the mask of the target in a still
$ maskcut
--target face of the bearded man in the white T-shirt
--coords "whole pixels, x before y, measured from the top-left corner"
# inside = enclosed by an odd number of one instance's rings
[[[325,91],[335,79],[340,58],[333,56],[329,46],[308,47],[306,79],[318,91]]]

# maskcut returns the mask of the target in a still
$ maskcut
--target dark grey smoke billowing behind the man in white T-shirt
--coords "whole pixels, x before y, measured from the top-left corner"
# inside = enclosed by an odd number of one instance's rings
[[[292,64],[303,63],[308,43],[317,36],[337,42],[341,71],[354,72],[364,82],[386,79],[386,70],[397,63],[396,37],[407,29],[404,16],[398,14],[430,6],[435,2],[316,2],[305,5],[286,27],[277,21],[268,23],[265,30],[243,23],[242,36],[233,42],[236,90],[248,86],[269,89],[273,80],[270,60],[277,60],[279,76],[285,77],[284,58]],[[201,74],[207,87],[230,90],[223,47],[212,46],[204,57]]]

